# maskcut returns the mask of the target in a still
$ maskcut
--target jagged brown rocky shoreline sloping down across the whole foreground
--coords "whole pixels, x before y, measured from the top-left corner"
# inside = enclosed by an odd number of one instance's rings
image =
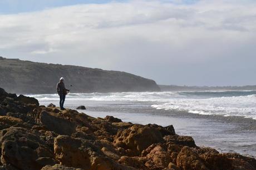
[[[0,88],[0,169],[256,169],[256,160],[196,146],[173,126],[93,118]]]

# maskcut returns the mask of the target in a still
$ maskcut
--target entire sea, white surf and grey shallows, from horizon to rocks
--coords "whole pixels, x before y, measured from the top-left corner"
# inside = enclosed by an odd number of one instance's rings
[[[29,94],[41,105],[58,106],[57,94]],[[256,91],[70,93],[65,107],[86,106],[93,117],[124,122],[173,124],[198,146],[256,157]]]

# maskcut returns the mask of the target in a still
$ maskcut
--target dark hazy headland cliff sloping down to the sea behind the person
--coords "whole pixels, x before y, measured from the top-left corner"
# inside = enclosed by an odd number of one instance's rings
[[[9,92],[56,93],[60,77],[66,88],[72,84],[72,92],[160,91],[155,81],[126,72],[0,57],[0,86]]]

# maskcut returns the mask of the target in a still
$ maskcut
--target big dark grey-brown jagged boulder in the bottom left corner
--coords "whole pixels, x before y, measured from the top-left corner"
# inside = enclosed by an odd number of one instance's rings
[[[53,152],[37,134],[26,128],[10,127],[0,135],[2,164],[11,164],[18,169],[41,169],[47,164],[56,164]]]

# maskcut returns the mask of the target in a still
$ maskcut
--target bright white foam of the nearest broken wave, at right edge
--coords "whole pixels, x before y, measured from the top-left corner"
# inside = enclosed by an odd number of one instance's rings
[[[153,104],[156,109],[186,111],[195,114],[242,116],[256,119],[256,96],[182,98],[164,104]]]

